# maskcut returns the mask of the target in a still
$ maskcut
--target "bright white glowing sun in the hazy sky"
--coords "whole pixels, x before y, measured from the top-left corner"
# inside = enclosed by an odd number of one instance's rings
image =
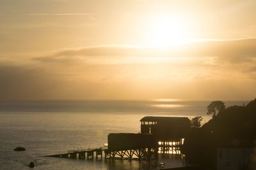
[[[148,27],[148,43],[151,46],[172,46],[185,43],[186,22],[168,15],[156,15]]]

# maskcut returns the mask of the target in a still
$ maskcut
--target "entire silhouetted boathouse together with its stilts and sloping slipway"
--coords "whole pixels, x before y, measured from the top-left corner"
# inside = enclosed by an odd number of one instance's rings
[[[185,117],[141,118],[141,133],[110,133],[108,146],[47,155],[72,159],[157,160],[158,153],[180,155],[190,120]]]

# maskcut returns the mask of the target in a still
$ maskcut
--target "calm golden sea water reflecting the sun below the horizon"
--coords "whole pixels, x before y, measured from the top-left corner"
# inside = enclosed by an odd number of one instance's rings
[[[78,160],[44,157],[77,148],[99,148],[111,132],[140,132],[148,115],[204,116],[209,101],[23,101],[0,102],[0,169],[147,169],[137,160]],[[226,106],[247,101],[225,101]],[[205,117],[206,116],[206,117]],[[13,148],[24,146],[25,152]],[[165,167],[182,166],[180,159],[164,158]],[[151,162],[156,169],[158,162]]]

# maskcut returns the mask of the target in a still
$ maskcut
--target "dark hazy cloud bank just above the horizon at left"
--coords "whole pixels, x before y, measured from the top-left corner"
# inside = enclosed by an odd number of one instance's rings
[[[59,72],[38,65],[18,66],[2,61],[0,62],[0,101],[88,99],[97,96],[100,90],[104,91],[100,83],[77,78],[77,74],[79,73],[69,71],[65,67]]]

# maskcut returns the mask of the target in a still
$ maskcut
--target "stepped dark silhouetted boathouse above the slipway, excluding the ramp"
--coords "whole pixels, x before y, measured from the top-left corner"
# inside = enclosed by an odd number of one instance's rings
[[[148,148],[141,152],[180,154],[180,146],[191,127],[186,117],[143,117],[140,122],[140,134],[109,134],[108,148],[113,151]]]

